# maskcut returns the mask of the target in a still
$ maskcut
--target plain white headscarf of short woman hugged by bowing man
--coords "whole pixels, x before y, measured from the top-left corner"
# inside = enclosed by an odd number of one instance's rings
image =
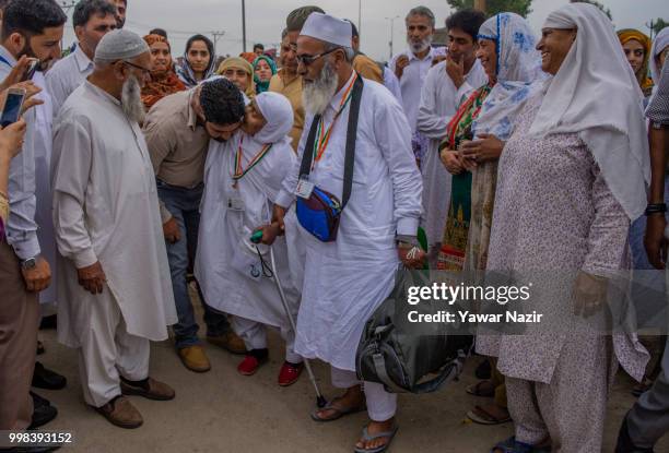
[[[289,132],[293,129],[293,107],[290,100],[270,92],[260,93],[255,100],[267,124],[254,135],[254,140],[261,143],[291,142]]]

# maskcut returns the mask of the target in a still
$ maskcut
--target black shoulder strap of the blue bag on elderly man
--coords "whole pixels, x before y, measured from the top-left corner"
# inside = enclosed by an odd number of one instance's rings
[[[355,141],[357,139],[357,118],[360,117],[360,102],[363,91],[363,78],[357,74],[357,79],[353,84],[351,94],[351,109],[349,110],[349,124],[347,128],[347,154],[344,157],[344,179],[343,192],[341,195],[341,208],[343,210],[353,189],[353,166],[355,164]],[[314,143],[316,142],[316,131],[320,115],[316,115],[312,120],[312,128],[307,136],[307,142],[302,155],[302,165],[300,166],[300,179],[306,179],[312,172],[312,162],[314,159]]]

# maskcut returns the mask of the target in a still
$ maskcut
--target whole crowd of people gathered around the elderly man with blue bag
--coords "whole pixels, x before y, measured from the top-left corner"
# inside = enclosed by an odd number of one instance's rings
[[[278,58],[219,59],[195,35],[174,59],[165,31],[124,29],[126,7],[80,0],[62,57],[55,0],[0,2],[0,97],[24,95],[0,130],[0,431],[57,415],[31,391],[66,385],[35,361],[40,303],[57,305],[85,403],[118,427],[143,422],[127,396],[175,397],[149,366],[169,330],[187,369],[211,369],[195,288],[207,342],[243,356],[240,374],[268,363],[268,326],[285,342],[278,385],[328,363],[342,393],[310,417],[366,412],[354,451],[377,453],[397,395],[361,382],[355,358],[398,265],[571,272],[542,307],[602,322],[621,271],[655,270],[647,286],[666,291],[669,28],[617,34],[576,2],[537,36],[515,13],[465,9],[439,48],[416,7],[384,64],[353,23],[302,7]],[[515,429],[492,452],[600,452],[619,367],[641,397],[617,453],[652,452],[669,430],[666,337],[649,367],[633,331],[563,327],[479,331],[488,360],[467,391],[494,400],[468,417]]]

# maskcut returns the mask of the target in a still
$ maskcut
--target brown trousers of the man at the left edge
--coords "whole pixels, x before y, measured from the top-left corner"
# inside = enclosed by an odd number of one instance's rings
[[[0,430],[28,427],[39,301],[25,289],[19,258],[0,240]]]

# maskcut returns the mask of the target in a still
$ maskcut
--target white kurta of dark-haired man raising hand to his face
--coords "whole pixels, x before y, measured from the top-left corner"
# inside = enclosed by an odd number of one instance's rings
[[[456,88],[448,73],[446,61],[427,72],[418,112],[418,131],[429,139],[423,155],[423,219],[430,248],[442,242],[448,204],[450,202],[450,174],[439,158],[439,143],[446,135],[450,118],[461,99],[488,81],[483,67],[477,59],[465,78],[465,84]]]

